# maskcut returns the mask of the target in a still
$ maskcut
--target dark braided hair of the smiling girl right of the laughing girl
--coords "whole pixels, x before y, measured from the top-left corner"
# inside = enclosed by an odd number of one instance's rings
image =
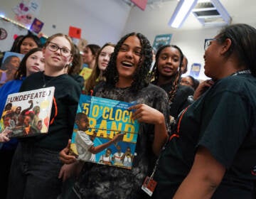
[[[177,45],[170,45],[170,44],[167,44],[167,45],[162,45],[159,50],[157,50],[156,52],[156,62],[154,63],[154,66],[153,66],[153,69],[152,69],[152,72],[151,72],[151,77],[154,75],[154,81],[157,82],[159,81],[159,70],[158,70],[158,61],[159,61],[159,55],[161,54],[161,51],[164,50],[164,48],[176,48],[178,50],[178,52],[180,53],[180,63],[178,65],[178,71],[176,72],[175,74],[175,77],[174,77],[174,82],[172,84],[172,87],[171,87],[171,91],[168,93],[169,95],[169,103],[172,104],[172,102],[174,102],[174,97],[176,95],[176,91],[177,91],[177,88],[178,88],[178,83],[179,83],[179,80],[181,78],[181,65],[182,65],[182,60],[183,60],[183,53],[181,51],[181,48],[178,48]]]

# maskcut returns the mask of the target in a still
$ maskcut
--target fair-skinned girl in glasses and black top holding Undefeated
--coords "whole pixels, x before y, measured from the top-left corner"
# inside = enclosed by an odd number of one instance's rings
[[[73,60],[72,40],[61,33],[50,36],[43,47],[45,70],[23,80],[20,92],[55,87],[48,134],[19,140],[10,171],[7,198],[57,198],[63,163],[58,154],[73,132],[81,88],[66,74]]]

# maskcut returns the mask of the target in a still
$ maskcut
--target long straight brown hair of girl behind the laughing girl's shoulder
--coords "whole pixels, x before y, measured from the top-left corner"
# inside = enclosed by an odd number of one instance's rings
[[[85,82],[85,94],[86,95],[88,95],[90,93],[90,90],[92,90],[95,87],[95,85],[97,84],[96,80],[97,80],[97,78],[100,77],[100,72],[101,71],[100,71],[100,68],[99,68],[99,65],[98,65],[98,59],[100,57],[100,53],[102,52],[102,50],[106,46],[114,47],[115,45],[113,43],[105,43],[105,45],[103,45],[102,48],[100,48],[99,53],[97,53],[95,67],[92,69],[92,74],[90,75],[88,80]],[[105,80],[104,75],[102,75],[102,79],[101,80]]]

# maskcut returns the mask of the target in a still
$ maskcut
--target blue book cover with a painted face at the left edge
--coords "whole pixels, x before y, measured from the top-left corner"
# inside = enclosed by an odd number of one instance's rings
[[[0,85],[4,85],[6,82],[14,80],[14,74],[16,70],[18,70],[18,66],[21,63],[23,56],[24,55],[20,53],[4,53],[0,68]]]

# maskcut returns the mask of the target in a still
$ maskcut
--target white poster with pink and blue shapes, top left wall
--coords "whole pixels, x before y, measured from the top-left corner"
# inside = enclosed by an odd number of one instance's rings
[[[40,8],[41,0],[21,0],[12,10],[18,23],[22,23],[24,26],[31,26],[33,18],[39,14]]]

